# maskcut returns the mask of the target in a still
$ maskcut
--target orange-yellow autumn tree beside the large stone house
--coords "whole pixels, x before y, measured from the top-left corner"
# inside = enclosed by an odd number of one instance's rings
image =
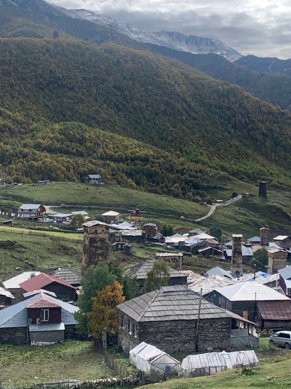
[[[107,346],[107,335],[115,335],[118,329],[118,304],[125,301],[123,287],[117,281],[107,286],[92,298],[92,312],[87,313],[88,328],[91,331],[95,347]]]

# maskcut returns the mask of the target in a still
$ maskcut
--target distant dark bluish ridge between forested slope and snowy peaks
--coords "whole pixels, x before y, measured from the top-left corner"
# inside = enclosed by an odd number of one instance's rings
[[[210,77],[237,84],[255,97],[279,105],[283,110],[291,111],[291,78],[284,75],[259,73],[259,70],[253,71],[256,69],[248,67],[248,63],[246,67],[240,66],[249,56],[230,62],[217,54],[191,54],[167,47],[148,46],[154,53],[179,59],[205,72]],[[179,67],[178,64],[177,66]]]

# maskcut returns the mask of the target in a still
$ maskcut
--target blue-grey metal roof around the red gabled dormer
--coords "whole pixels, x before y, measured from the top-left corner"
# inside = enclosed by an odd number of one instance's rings
[[[39,295],[44,295],[40,293]],[[37,296],[30,297],[26,300],[18,302],[18,304],[12,305],[11,307],[5,308],[0,311],[0,328],[7,327],[26,327],[28,325],[27,308],[26,305],[29,301],[32,301]],[[61,307],[61,320],[64,325],[77,324],[74,317],[74,312],[78,311],[79,308],[74,305],[68,304],[65,301],[58,300],[57,298],[51,297]]]

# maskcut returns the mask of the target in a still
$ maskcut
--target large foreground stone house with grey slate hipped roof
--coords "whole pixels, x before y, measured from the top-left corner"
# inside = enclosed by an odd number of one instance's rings
[[[195,352],[196,343],[199,351],[207,348],[224,350],[231,346],[233,329],[244,328],[253,334],[254,323],[202,298],[196,338],[199,300],[200,296],[186,285],[175,285],[119,304],[118,339],[123,350],[129,353],[142,341],[167,353]]]

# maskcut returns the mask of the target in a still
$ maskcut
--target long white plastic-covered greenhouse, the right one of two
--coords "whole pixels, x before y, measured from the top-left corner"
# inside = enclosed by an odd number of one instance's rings
[[[210,376],[226,370],[258,365],[258,357],[253,350],[188,355],[182,361],[180,375],[185,377]]]

